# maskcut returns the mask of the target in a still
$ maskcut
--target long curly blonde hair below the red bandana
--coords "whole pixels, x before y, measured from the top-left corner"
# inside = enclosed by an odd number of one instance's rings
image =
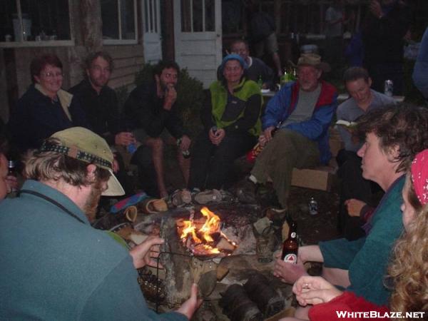
[[[419,203],[412,184],[407,195],[416,217],[394,246],[388,270],[394,283],[390,307],[403,313],[428,313],[428,204]]]

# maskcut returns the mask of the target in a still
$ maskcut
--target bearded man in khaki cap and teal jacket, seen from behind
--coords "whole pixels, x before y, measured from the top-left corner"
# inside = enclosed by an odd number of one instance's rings
[[[1,320],[188,320],[197,287],[176,311],[148,309],[136,268],[161,238],[128,251],[91,227],[100,195],[123,195],[113,153],[86,128],[54,133],[25,161],[18,198],[0,204]]]

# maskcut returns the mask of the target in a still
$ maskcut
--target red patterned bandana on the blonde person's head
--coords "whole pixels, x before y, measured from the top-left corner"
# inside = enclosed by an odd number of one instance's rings
[[[410,173],[414,192],[422,205],[428,203],[428,149],[420,152],[414,157]]]

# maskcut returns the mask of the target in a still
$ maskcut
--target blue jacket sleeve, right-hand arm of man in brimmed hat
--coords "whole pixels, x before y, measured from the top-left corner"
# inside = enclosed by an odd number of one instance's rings
[[[286,128],[301,133],[303,136],[315,141],[320,135],[327,130],[332,122],[333,114],[335,113],[336,98],[332,105],[322,106],[312,114],[309,121],[301,121],[300,123],[290,123]]]

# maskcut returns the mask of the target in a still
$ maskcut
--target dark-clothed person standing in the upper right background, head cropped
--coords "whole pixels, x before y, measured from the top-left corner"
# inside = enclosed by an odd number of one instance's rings
[[[409,30],[411,11],[402,0],[371,0],[362,24],[364,66],[372,88],[384,92],[384,81],[392,80],[394,95],[403,93],[403,38]]]

